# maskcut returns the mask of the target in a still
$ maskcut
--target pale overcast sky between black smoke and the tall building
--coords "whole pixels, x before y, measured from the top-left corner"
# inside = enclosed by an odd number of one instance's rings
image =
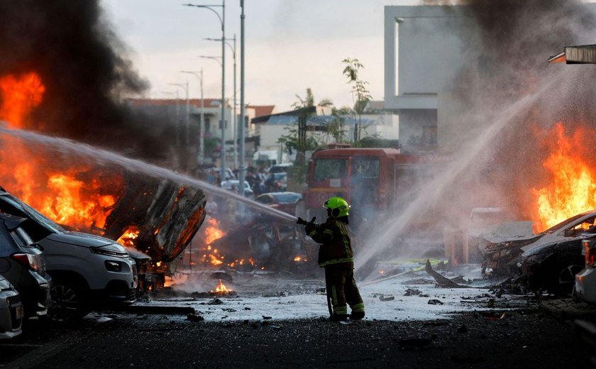
[[[126,45],[136,70],[151,84],[146,97],[172,98],[189,82],[200,97],[199,78],[180,70],[204,70],[204,97],[221,98],[221,65],[199,55],[221,57],[221,23],[213,11],[182,6],[189,0],[101,0]],[[221,0],[190,1],[221,4]],[[365,69],[373,99],[383,99],[383,8],[416,0],[245,0],[245,102],[292,109],[307,87],[315,101],[353,106],[342,75],[346,57]],[[214,8],[221,14],[221,7]],[[226,38],[236,34],[237,101],[240,101],[240,0],[226,1]],[[230,41],[233,44],[233,41]],[[233,58],[226,46],[226,97],[233,94]]]

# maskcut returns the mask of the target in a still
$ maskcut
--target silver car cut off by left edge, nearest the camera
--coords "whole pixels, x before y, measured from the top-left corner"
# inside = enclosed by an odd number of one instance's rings
[[[0,339],[22,333],[23,304],[13,285],[0,275]]]

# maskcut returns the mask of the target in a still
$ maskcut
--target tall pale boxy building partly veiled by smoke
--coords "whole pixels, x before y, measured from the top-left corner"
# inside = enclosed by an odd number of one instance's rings
[[[385,6],[385,109],[399,115],[404,150],[441,146],[455,123],[450,83],[463,65],[482,68],[475,38],[460,35],[476,31],[465,6]]]

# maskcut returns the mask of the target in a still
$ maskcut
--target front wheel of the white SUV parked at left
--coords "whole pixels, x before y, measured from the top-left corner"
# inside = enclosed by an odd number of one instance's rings
[[[52,302],[48,317],[53,321],[72,321],[89,314],[84,287],[72,282],[55,280],[50,294]]]

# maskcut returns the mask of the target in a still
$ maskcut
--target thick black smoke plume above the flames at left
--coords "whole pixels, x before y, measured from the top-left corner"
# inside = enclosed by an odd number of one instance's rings
[[[123,56],[98,0],[1,1],[0,50],[0,76],[36,72],[45,85],[26,128],[144,158],[162,155],[172,139],[174,130],[121,101],[148,82]]]

